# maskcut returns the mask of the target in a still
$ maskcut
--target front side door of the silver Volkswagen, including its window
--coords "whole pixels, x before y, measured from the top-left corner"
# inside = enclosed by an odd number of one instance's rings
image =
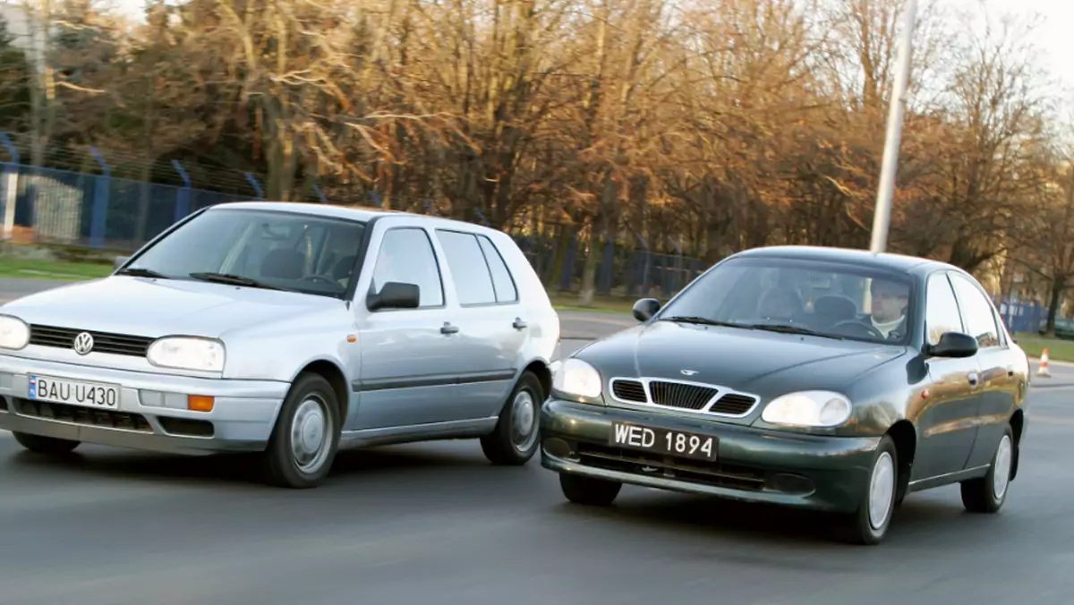
[[[421,296],[417,308],[376,312],[365,306],[366,291],[355,297],[361,368],[351,430],[449,419],[446,410],[458,401],[455,379],[468,364],[467,347],[448,321],[452,308],[431,233],[420,225],[390,227],[369,248],[377,250],[365,263],[372,274],[359,288],[368,284],[368,292],[376,292],[387,282],[402,282],[416,284]]]

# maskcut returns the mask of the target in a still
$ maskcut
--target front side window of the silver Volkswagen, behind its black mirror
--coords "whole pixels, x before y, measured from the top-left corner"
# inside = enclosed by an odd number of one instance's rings
[[[379,292],[387,282],[417,285],[421,290],[420,307],[444,304],[440,268],[424,229],[402,227],[384,232],[373,269],[373,291]]]

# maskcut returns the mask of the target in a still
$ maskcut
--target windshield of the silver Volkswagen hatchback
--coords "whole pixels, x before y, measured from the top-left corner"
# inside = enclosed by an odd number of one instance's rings
[[[162,237],[120,273],[342,297],[365,224],[300,213],[219,208]]]

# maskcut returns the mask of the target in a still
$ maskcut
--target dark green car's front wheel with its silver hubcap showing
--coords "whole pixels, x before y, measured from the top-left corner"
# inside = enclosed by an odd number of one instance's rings
[[[881,437],[858,509],[846,520],[848,542],[873,546],[883,542],[896,509],[899,453],[889,435]]]

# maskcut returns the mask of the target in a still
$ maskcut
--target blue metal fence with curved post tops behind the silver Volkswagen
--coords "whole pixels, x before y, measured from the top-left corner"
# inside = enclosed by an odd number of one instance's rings
[[[27,229],[34,242],[133,250],[192,212],[223,202],[263,199],[261,183],[246,173],[249,195],[222,193],[192,186],[182,163],[172,162],[184,186],[163,185],[118,178],[102,154],[91,149],[100,174],[27,165],[19,162],[18,150],[0,133],[2,145],[12,161],[0,162],[0,222],[8,216],[5,201],[14,201],[13,226]],[[14,189],[15,195],[9,195]],[[318,200],[328,202],[319,187],[314,188]],[[379,196],[369,193],[368,205],[380,206]],[[424,212],[435,214],[433,204]],[[480,213],[479,222],[489,225]],[[632,248],[612,239],[598,251],[597,293],[628,297],[655,296],[668,298],[699,275],[706,267],[699,259],[679,254],[651,251],[640,236],[641,249]],[[514,234],[526,257],[551,291],[577,291],[582,283],[586,250],[576,234],[555,271],[555,242],[547,237]],[[678,246],[676,246],[678,248]],[[549,283],[558,273],[556,284]]]

